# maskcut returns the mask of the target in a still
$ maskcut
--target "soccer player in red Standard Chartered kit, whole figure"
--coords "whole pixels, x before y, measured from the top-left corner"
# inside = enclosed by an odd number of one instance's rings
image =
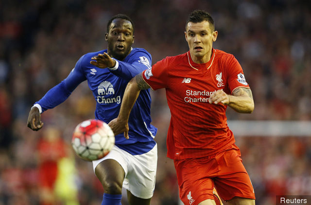
[[[185,37],[190,51],[166,57],[127,85],[118,118],[109,123],[128,137],[127,120],[140,90],[166,89],[171,111],[167,156],[174,160],[185,205],[215,205],[213,188],[229,205],[255,205],[255,193],[225,115],[254,110],[252,92],[237,59],[212,48],[218,32],[211,16],[193,11]]]

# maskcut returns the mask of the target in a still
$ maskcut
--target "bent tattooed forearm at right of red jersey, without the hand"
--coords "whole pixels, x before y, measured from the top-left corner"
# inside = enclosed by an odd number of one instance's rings
[[[254,100],[251,89],[237,88],[229,95],[228,106],[236,112],[252,113],[254,111]]]

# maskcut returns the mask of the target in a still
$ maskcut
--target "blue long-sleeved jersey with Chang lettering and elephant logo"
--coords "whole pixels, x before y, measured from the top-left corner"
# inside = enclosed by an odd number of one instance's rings
[[[64,102],[81,82],[87,80],[96,101],[95,118],[109,123],[118,117],[127,83],[135,75],[151,67],[151,55],[145,49],[133,48],[123,61],[117,60],[119,66],[115,70],[97,68],[89,63],[91,57],[104,52],[107,50],[82,56],[68,77],[36,102],[41,106],[42,112]],[[125,139],[123,133],[117,135],[116,146],[131,154],[142,154],[155,146],[157,129],[150,124],[150,105],[149,89],[142,90],[130,113],[129,139]]]

